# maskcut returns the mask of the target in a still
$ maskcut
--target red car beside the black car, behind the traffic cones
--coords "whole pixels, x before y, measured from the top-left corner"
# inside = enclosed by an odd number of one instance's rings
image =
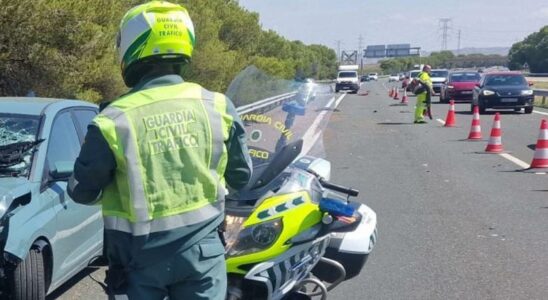
[[[472,101],[476,84],[480,81],[480,74],[476,71],[453,71],[449,73],[447,82],[441,86],[440,102],[449,100]]]

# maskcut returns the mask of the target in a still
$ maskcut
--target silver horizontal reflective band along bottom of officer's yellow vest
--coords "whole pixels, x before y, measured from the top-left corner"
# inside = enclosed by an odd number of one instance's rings
[[[194,225],[216,217],[223,211],[224,203],[218,201],[196,210],[146,222],[130,222],[117,216],[104,216],[103,221],[107,230],[117,230],[139,236]]]

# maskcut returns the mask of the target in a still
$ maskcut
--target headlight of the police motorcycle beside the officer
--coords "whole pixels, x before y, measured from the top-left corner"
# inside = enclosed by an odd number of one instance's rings
[[[239,256],[267,249],[278,240],[282,229],[281,218],[244,228],[228,249],[228,256]]]

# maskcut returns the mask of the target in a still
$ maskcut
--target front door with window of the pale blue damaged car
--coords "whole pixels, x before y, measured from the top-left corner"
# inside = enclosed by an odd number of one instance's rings
[[[64,280],[81,270],[102,245],[102,221],[98,206],[75,203],[67,194],[66,181],[54,181],[49,175],[56,164],[74,165],[80,153],[80,138],[70,110],[60,112],[48,138],[46,165],[49,176],[44,197],[53,202],[57,230],[52,241],[54,273],[52,282]]]

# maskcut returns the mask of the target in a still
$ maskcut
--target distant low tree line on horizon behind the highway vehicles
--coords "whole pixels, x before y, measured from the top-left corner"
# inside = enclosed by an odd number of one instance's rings
[[[429,64],[433,68],[478,68],[504,66],[508,58],[501,55],[468,54],[455,55],[451,51],[432,52],[427,57],[401,57],[380,62],[385,73],[397,73],[416,69],[415,65]]]

